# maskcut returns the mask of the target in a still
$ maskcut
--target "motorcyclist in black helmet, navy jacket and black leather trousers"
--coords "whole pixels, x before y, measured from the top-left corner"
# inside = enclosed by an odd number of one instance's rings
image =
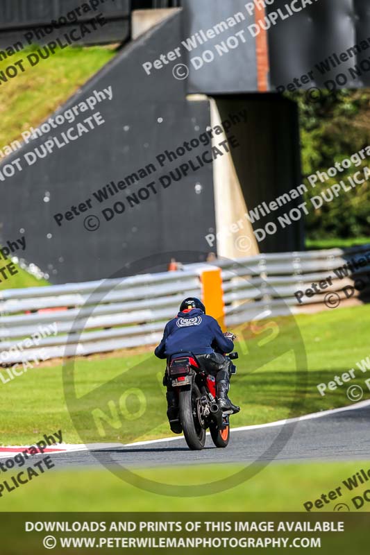
[[[154,353],[159,359],[167,359],[177,353],[192,352],[202,370],[215,375],[217,401],[221,409],[237,413],[240,408],[228,398],[231,361],[223,354],[233,350],[234,338],[230,332],[223,334],[215,318],[205,314],[205,306],[201,300],[188,297],[181,303],[176,318],[166,324],[162,341]],[[169,425],[172,432],[180,434],[182,429],[178,422],[178,398],[169,384],[164,382],[164,385],[167,386]]]

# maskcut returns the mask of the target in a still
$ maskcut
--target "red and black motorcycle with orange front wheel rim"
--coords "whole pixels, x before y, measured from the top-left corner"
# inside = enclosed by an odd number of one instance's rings
[[[237,352],[228,355],[237,359]],[[230,374],[236,373],[230,364]],[[173,355],[167,361],[165,379],[178,392],[178,420],[183,427],[185,441],[191,450],[205,445],[205,431],[209,428],[216,447],[227,447],[230,440],[230,414],[222,411],[216,400],[216,378],[201,370],[192,352]]]

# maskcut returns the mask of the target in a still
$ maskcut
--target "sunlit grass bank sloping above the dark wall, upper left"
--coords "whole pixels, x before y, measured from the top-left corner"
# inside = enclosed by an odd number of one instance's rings
[[[0,62],[0,71],[34,51],[25,49]],[[0,87],[0,148],[15,140],[29,127],[36,127],[64,103],[96,71],[115,55],[103,46],[70,47],[56,51],[35,67],[24,62],[26,71]]]

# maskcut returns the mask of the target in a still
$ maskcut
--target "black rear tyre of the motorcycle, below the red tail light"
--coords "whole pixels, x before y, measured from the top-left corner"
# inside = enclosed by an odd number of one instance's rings
[[[196,384],[190,389],[180,390],[178,409],[180,422],[183,426],[185,441],[192,451],[200,451],[205,445],[205,429],[198,419],[197,400],[201,392]]]

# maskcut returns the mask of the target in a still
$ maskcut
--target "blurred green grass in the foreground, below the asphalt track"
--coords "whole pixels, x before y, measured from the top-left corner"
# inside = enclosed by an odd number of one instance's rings
[[[303,504],[318,499],[338,486],[342,497],[330,502],[325,509],[333,511],[337,502],[351,505],[351,498],[361,495],[366,484],[350,492],[342,481],[361,468],[368,470],[367,462],[341,463],[273,463],[261,470],[253,479],[234,488],[203,497],[168,497],[128,484],[112,475],[109,470],[78,470],[73,472],[49,470],[33,481],[0,499],[0,511],[304,511]],[[146,479],[171,484],[202,484],[218,481],[242,470],[241,466],[204,465],[187,468],[156,468],[135,471]],[[195,477],[195,478],[194,478]],[[140,486],[140,482],[138,482]],[[201,493],[201,485],[199,485]],[[171,486],[167,488],[171,494]],[[368,511],[369,503],[362,510]],[[351,505],[351,511],[355,511]]]

